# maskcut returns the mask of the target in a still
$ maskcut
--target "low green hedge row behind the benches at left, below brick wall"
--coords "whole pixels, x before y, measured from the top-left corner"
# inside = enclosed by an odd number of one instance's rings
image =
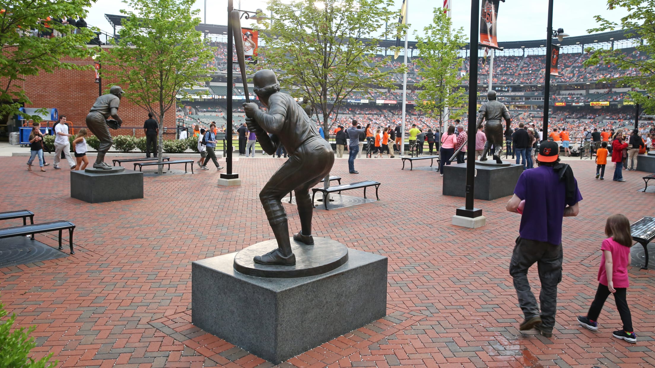
[[[71,141],[71,147],[74,138],[75,136],[69,138],[69,141]],[[127,153],[139,149],[141,152],[145,152],[145,137],[136,138],[133,136],[115,136],[113,139],[116,151]],[[46,151],[54,152],[54,136],[45,136],[43,138],[43,144],[45,145]],[[88,144],[92,149],[98,151],[100,140],[96,136],[87,136],[86,144]],[[198,140],[193,137],[187,139],[164,139],[164,144],[162,146],[165,153],[183,153],[187,149],[198,152]]]

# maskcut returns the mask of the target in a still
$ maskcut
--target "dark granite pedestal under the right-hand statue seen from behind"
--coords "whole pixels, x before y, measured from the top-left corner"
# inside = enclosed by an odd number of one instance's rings
[[[476,161],[476,177],[474,179],[474,198],[494,200],[514,194],[514,187],[523,173],[523,165],[495,161]],[[466,196],[466,164],[443,166],[443,190],[445,196]]]

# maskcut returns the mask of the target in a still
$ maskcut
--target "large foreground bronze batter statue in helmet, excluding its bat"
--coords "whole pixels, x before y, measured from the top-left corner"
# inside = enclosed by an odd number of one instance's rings
[[[255,132],[261,148],[269,155],[275,153],[279,145],[283,145],[289,154],[289,159],[259,193],[259,200],[275,234],[278,248],[255,256],[255,262],[264,265],[295,265],[282,198],[290,191],[295,191],[301,231],[293,235],[293,240],[307,245],[314,244],[314,206],[309,189],[329,174],[334,164],[334,153],[327,141],[318,134],[314,122],[309,119],[303,107],[288,94],[280,93],[280,84],[271,69],[257,71],[253,83],[255,94],[268,108],[268,112],[260,110],[256,103],[244,103],[248,129]]]

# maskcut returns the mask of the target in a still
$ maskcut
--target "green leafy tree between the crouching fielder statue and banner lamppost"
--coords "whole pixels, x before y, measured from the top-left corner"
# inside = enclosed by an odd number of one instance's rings
[[[183,88],[208,81],[212,48],[202,42],[199,9],[195,0],[124,0],[131,10],[121,10],[119,41],[103,53],[109,68],[103,73],[126,91],[124,98],[159,117],[159,162],[163,145],[166,111],[176,107],[176,96],[188,100]],[[159,166],[159,174],[162,173]]]

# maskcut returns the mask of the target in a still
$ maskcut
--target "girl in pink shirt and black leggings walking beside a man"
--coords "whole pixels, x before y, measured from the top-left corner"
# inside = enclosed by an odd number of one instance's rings
[[[598,290],[593,299],[587,316],[578,316],[578,323],[591,331],[598,330],[598,316],[601,314],[605,299],[614,294],[616,309],[621,316],[623,329],[614,331],[612,336],[627,342],[637,342],[637,335],[632,331],[632,318],[627,306],[626,291],[629,286],[627,267],[630,265],[630,221],[624,215],[611,215],[605,224],[605,234],[609,238],[603,240],[601,250],[601,266],[598,270]]]

